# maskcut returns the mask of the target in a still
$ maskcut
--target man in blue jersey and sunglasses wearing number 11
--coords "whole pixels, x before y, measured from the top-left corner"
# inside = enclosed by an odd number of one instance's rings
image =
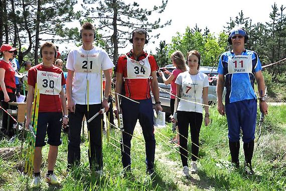
[[[218,112],[227,117],[228,139],[231,160],[239,167],[239,139],[242,129],[244,150],[244,169],[253,174],[251,159],[254,148],[257,99],[254,91],[256,79],[259,91],[260,111],[267,115],[265,84],[261,72],[261,63],[257,53],[246,50],[247,32],[242,28],[233,29],[228,36],[232,50],[224,52],[219,59],[217,99]],[[226,86],[225,106],[222,103],[223,87]]]

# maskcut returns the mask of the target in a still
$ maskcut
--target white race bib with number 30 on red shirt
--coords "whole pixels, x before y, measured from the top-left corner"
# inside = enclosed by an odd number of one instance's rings
[[[62,74],[37,71],[37,84],[41,94],[58,95],[61,92]]]

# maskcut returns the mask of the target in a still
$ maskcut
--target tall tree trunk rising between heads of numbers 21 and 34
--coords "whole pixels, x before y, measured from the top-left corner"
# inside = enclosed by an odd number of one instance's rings
[[[117,4],[116,4],[116,0],[112,1],[113,4],[113,21],[112,21],[112,25],[113,25],[113,34],[111,36],[111,41],[113,42],[113,47],[114,47],[114,52],[113,52],[113,64],[116,65],[117,63],[117,59],[118,59],[118,41],[117,41]]]

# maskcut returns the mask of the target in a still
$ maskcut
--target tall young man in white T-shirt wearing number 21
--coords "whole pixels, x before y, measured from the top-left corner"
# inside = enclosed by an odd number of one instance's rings
[[[67,59],[67,102],[69,110],[68,168],[80,163],[80,132],[83,116],[89,120],[101,108],[108,110],[108,93],[111,86],[110,68],[114,65],[105,50],[93,46],[95,29],[84,23],[80,30],[83,45],[70,51]],[[106,78],[102,98],[102,71]],[[92,171],[102,173],[101,119],[98,115],[87,123],[89,131],[89,165]]]

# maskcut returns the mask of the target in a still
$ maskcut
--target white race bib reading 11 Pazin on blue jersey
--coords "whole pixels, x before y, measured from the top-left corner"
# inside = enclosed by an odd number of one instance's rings
[[[252,59],[250,55],[239,55],[228,58],[228,73],[251,73]]]

